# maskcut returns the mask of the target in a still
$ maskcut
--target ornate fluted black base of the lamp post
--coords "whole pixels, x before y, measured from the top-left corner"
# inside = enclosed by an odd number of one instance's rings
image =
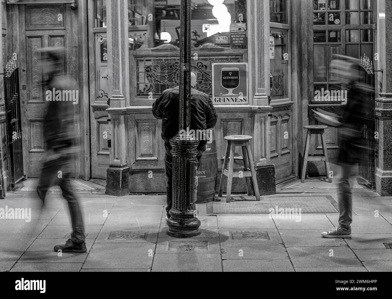
[[[191,139],[188,138],[186,139]],[[170,140],[173,155],[172,209],[166,234],[176,238],[200,235],[200,220],[196,217],[198,140],[181,140],[178,133]],[[190,184],[189,184],[190,182]]]

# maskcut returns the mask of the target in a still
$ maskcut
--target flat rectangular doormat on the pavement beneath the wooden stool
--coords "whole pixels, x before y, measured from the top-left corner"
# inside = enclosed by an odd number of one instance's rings
[[[238,198],[238,197],[237,197]],[[254,197],[240,197],[240,200],[225,202],[213,201],[207,203],[207,214],[269,214],[270,208],[284,209],[301,208],[301,213],[338,213],[338,203],[330,195],[323,196],[279,196],[260,197],[256,201]]]

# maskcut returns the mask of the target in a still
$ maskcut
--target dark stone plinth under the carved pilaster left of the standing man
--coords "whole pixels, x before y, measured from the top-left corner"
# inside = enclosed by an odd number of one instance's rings
[[[129,194],[128,164],[111,164],[106,170],[107,195],[125,196]]]

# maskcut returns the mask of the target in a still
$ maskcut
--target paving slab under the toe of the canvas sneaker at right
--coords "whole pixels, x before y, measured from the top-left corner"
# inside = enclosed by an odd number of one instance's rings
[[[323,238],[323,230],[279,230],[286,247],[347,246],[341,238]]]

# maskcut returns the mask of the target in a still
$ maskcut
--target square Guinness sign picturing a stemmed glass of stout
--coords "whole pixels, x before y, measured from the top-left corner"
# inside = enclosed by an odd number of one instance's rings
[[[248,64],[212,64],[212,103],[248,104]]]

